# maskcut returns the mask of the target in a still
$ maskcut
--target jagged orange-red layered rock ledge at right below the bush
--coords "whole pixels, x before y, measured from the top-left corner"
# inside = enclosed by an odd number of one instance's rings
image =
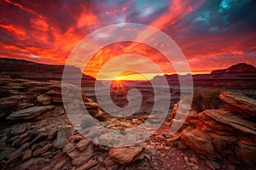
[[[201,113],[191,109],[173,140],[211,160],[224,159],[234,164],[243,162],[255,166],[256,100],[231,92],[220,94],[219,99],[224,101],[227,109]],[[178,122],[179,117],[183,117],[182,110],[177,112],[177,106],[183,105],[187,105],[185,101],[175,105],[172,122]]]

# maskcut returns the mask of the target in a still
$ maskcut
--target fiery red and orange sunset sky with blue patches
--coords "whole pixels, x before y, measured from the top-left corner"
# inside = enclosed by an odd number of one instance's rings
[[[73,48],[90,33],[114,24],[138,23],[172,37],[192,74],[241,62],[256,66],[255,8],[253,0],[1,0],[0,57],[65,65]],[[120,54],[143,55],[160,65],[163,73],[174,73],[165,56],[137,42],[99,49],[84,73],[97,77],[102,67]],[[123,79],[140,79],[135,67],[148,71],[151,78],[157,74],[148,69],[147,59],[123,58],[119,64],[131,70]],[[102,79],[113,77],[111,72],[103,73]]]

